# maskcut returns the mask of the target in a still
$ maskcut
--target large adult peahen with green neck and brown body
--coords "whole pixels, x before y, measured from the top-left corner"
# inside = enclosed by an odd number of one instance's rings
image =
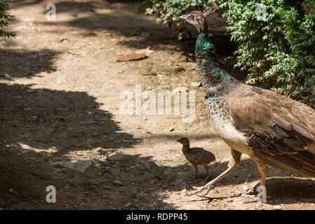
[[[210,188],[236,170],[246,153],[261,173],[265,185],[267,165],[315,177],[315,111],[276,92],[239,82],[220,68],[215,46],[208,38],[206,16],[214,8],[192,11],[179,19],[198,29],[196,61],[206,94],[206,107],[217,131],[231,147],[228,169],[189,195]]]

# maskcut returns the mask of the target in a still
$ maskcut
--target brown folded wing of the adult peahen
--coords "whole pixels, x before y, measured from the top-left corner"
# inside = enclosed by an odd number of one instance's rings
[[[289,172],[315,176],[315,111],[269,90],[241,85],[227,96],[237,130],[253,156]]]

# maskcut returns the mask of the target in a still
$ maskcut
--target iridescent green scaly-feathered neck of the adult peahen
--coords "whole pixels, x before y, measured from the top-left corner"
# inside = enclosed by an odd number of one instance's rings
[[[208,97],[215,97],[229,92],[236,80],[220,69],[215,59],[215,46],[208,38],[208,32],[201,31],[196,41],[196,61],[200,69],[201,83]],[[209,93],[210,92],[210,93]]]

